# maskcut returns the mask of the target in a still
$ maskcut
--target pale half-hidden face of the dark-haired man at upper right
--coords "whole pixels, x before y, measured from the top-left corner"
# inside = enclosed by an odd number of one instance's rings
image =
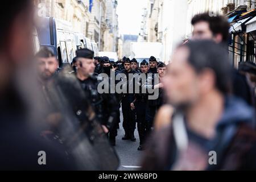
[[[213,39],[213,33],[210,31],[209,23],[203,21],[193,26],[192,34],[193,40]]]

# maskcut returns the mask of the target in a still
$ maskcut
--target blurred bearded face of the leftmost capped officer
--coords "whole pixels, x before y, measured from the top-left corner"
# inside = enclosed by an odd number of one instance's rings
[[[38,73],[44,80],[51,78],[58,68],[56,57],[38,58]]]

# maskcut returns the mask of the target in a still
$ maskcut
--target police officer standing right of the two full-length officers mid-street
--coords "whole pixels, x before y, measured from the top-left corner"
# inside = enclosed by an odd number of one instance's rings
[[[147,78],[147,73],[149,70],[148,62],[143,60],[141,62],[141,76],[144,75]],[[145,80],[144,80],[145,81]],[[139,93],[135,94],[135,111],[137,115],[137,126],[138,126],[138,133],[139,133],[139,147],[138,150],[144,150],[144,142],[146,135],[148,133],[147,123],[146,123],[146,105],[148,100],[148,94],[142,93],[142,86],[145,85],[142,79],[139,79]]]

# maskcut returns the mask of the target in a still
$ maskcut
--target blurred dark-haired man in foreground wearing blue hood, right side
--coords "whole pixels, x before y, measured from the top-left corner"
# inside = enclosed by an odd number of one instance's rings
[[[230,96],[227,59],[226,50],[208,40],[176,49],[166,77],[168,100],[176,111],[172,125],[152,138],[142,169],[256,168],[254,113]]]

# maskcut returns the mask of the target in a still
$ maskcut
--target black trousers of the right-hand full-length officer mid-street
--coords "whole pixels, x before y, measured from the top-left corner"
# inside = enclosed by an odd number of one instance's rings
[[[146,137],[151,130],[149,123],[146,121],[146,106],[147,106],[147,102],[144,100],[138,100],[135,102],[135,110],[137,115],[137,126],[138,126],[140,144],[144,144]]]

